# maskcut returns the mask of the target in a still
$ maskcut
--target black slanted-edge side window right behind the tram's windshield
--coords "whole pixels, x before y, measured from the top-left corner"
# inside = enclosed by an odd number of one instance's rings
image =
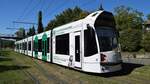
[[[98,53],[94,30],[84,30],[84,55],[85,57]]]

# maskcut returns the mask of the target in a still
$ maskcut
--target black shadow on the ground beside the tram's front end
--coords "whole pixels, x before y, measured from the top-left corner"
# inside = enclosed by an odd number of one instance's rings
[[[134,69],[142,67],[142,64],[133,64],[133,63],[123,63],[122,70],[117,72],[101,74],[102,77],[115,77],[115,76],[124,76],[129,75]]]

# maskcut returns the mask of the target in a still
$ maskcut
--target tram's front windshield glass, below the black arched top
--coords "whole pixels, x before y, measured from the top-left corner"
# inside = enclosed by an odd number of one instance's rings
[[[117,48],[117,35],[116,32],[110,27],[98,27],[96,28],[99,47],[101,52],[112,51]]]

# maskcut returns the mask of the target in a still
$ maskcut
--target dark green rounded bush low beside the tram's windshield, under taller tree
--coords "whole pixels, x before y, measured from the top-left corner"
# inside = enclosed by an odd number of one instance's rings
[[[142,39],[142,32],[139,29],[127,29],[120,35],[121,49],[123,51],[138,51]]]

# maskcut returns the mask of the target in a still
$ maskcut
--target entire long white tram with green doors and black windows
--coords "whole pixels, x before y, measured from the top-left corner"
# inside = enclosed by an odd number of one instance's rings
[[[92,73],[121,69],[118,32],[113,14],[107,11],[28,37],[23,44],[27,48],[20,47],[22,42],[15,43],[16,51],[25,49],[25,54],[47,62]]]

